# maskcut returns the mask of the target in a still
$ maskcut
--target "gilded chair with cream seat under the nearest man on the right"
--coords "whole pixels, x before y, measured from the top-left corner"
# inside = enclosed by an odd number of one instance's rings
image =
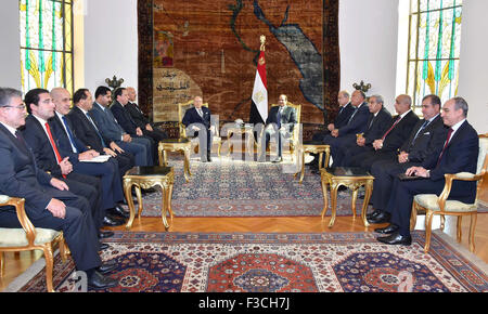
[[[476,174],[468,172],[460,172],[454,174],[445,174],[446,185],[440,196],[435,194],[419,194],[415,195],[412,206],[412,219],[411,228],[415,226],[416,214],[419,211],[425,211],[425,247],[424,251],[428,252],[431,246],[432,234],[432,219],[434,214],[441,215],[441,228],[444,230],[444,215],[457,215],[458,217],[458,241],[461,241],[462,230],[461,222],[463,215],[471,215],[468,245],[470,250],[473,252],[474,246],[474,232],[476,226],[478,197],[481,189],[483,179],[487,172],[488,166],[488,138],[479,139],[479,155]],[[452,187],[452,181],[477,181],[476,199],[474,204],[465,204],[459,200],[448,200],[449,194]]]

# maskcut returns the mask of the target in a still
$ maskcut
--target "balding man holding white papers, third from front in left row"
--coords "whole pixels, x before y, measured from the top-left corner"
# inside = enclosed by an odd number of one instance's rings
[[[121,218],[129,214],[121,208],[124,193],[119,178],[118,163],[114,158],[104,162],[89,162],[93,157],[100,156],[94,149],[88,149],[74,132],[73,125],[66,115],[72,106],[69,92],[63,88],[51,91],[52,101],[55,105],[54,115],[50,118],[59,149],[62,157],[69,157],[75,172],[95,175],[102,182],[102,207],[107,212]]]

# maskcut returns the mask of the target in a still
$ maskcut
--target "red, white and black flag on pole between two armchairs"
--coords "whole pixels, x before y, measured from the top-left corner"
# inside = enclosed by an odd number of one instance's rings
[[[253,125],[265,123],[268,118],[268,83],[266,81],[266,62],[264,50],[259,53],[252,100],[253,103],[251,104],[249,122]]]

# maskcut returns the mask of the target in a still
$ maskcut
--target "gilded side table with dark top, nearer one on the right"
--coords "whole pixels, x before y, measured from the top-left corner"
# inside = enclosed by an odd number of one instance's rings
[[[322,194],[323,194],[323,210],[322,220],[328,211],[328,185],[331,186],[331,221],[329,222],[329,227],[332,227],[335,222],[335,215],[337,210],[337,188],[344,185],[352,189],[352,217],[356,219],[356,200],[358,199],[358,189],[360,186],[364,185],[364,201],[362,204],[361,219],[364,226],[369,226],[368,220],[365,218],[368,204],[370,202],[371,193],[373,192],[373,180],[368,171],[362,168],[355,167],[335,167],[335,168],[322,168],[320,170],[320,179],[322,183]]]

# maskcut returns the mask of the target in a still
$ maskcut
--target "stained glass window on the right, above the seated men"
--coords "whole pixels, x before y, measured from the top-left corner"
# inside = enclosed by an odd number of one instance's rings
[[[458,93],[462,0],[411,0],[407,93],[442,103]]]

